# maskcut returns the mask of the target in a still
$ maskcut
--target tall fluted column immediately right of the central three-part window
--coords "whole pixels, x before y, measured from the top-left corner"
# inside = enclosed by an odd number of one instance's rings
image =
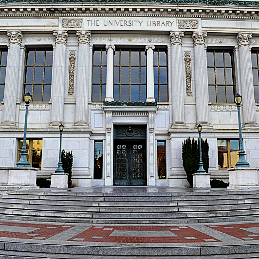
[[[182,40],[184,32],[170,32],[172,80],[172,128],[186,128]]]

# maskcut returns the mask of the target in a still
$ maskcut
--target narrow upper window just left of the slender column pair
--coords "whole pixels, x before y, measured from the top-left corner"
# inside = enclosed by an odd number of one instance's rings
[[[106,96],[107,53],[104,48],[95,48],[92,58],[92,101],[103,102]]]

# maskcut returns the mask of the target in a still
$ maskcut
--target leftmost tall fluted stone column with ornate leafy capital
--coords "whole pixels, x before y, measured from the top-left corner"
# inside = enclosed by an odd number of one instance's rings
[[[7,36],[9,37],[10,47],[6,64],[1,126],[16,127],[15,115],[17,88],[19,87],[20,45],[23,35],[21,31],[8,31]]]

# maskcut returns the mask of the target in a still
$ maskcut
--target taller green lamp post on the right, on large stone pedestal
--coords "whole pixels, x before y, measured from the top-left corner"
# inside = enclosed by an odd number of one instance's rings
[[[236,164],[236,167],[249,167],[249,163],[245,160],[245,151],[243,148],[243,140],[242,140],[242,130],[241,130],[241,116],[240,116],[240,104],[242,102],[242,95],[236,94],[234,97],[235,103],[238,108],[238,116],[239,116],[239,161]]]

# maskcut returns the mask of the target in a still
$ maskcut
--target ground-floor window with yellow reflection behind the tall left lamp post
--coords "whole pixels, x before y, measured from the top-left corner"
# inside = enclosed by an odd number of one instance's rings
[[[17,162],[20,160],[20,151],[22,149],[23,139],[18,140]],[[42,157],[42,139],[26,139],[27,160],[32,167],[41,169]]]

